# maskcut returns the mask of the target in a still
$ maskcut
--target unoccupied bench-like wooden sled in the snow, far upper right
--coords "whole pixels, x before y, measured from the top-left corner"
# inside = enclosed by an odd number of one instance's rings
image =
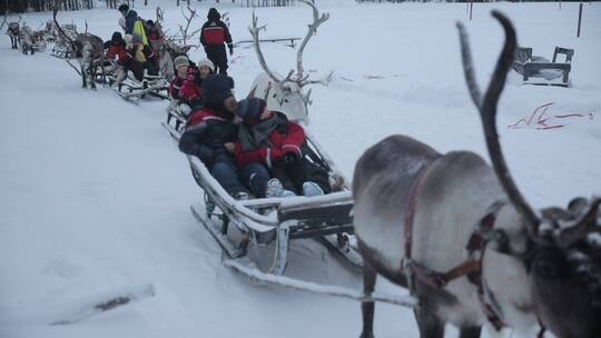
[[[565,60],[558,62],[558,56],[564,54]],[[523,81],[528,81],[530,77],[534,76],[540,70],[559,70],[563,73],[561,83],[532,83],[532,84],[555,84],[555,86],[569,86],[570,70],[572,70],[572,57],[574,50],[569,48],[555,47],[553,52],[552,62],[536,62],[532,60],[532,48],[518,48],[515,50],[515,61],[513,61],[513,69],[523,76]]]

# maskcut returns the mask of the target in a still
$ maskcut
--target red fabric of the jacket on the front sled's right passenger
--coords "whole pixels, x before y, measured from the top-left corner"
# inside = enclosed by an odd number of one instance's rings
[[[280,132],[282,129],[287,129],[287,132]],[[306,136],[303,127],[294,122],[287,122],[284,128],[278,127],[269,135],[270,148],[262,147],[256,150],[243,151],[240,142],[236,142],[236,150],[234,152],[236,163],[239,167],[249,163],[263,163],[270,168],[272,163],[282,160],[286,152],[294,152],[298,157],[302,157],[300,147],[305,142],[305,139]]]

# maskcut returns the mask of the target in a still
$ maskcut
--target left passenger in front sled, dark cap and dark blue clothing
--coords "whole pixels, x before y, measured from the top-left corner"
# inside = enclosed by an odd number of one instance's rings
[[[179,150],[198,157],[221,187],[234,198],[249,198],[248,189],[238,175],[257,176],[259,165],[238,170],[234,155],[225,143],[236,140],[238,126],[234,123],[236,98],[231,92],[234,80],[224,74],[211,74],[203,81],[204,106],[188,118],[179,139]],[[255,173],[257,172],[257,173]]]

